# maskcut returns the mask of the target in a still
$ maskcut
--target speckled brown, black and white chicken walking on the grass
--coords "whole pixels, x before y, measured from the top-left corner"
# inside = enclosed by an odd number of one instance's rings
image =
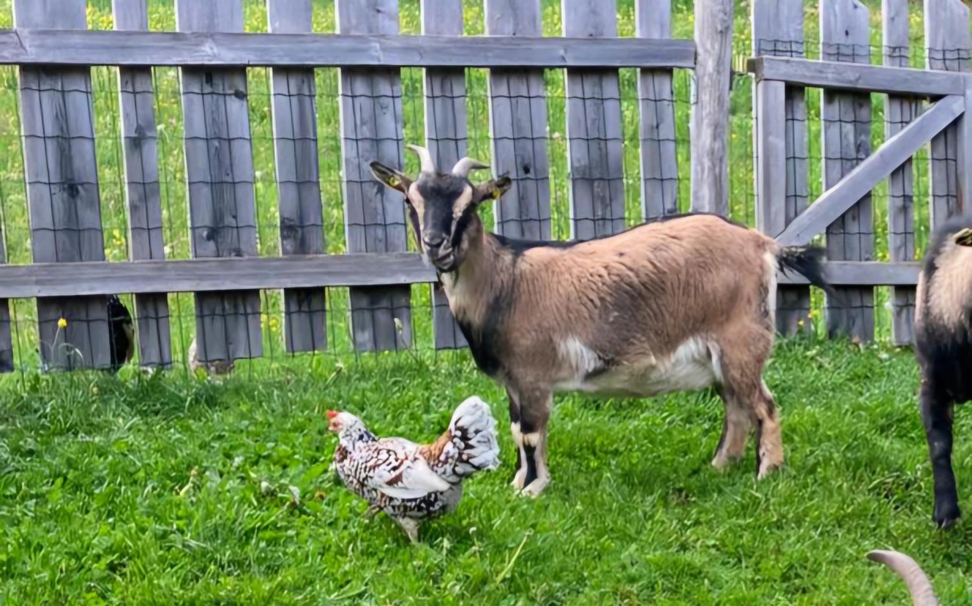
[[[449,428],[432,444],[379,439],[350,413],[328,411],[328,418],[338,436],[337,475],[370,504],[369,515],[384,511],[413,542],[422,520],[456,509],[464,480],[500,464],[496,420],[476,396],[459,405]]]

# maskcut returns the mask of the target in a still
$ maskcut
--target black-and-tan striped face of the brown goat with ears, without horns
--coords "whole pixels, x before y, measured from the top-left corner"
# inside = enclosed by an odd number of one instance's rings
[[[509,188],[501,177],[472,185],[466,177],[424,171],[412,181],[378,162],[371,173],[384,185],[405,194],[415,239],[439,272],[452,272],[469,252],[469,236],[482,223],[476,209],[483,200],[497,199]]]

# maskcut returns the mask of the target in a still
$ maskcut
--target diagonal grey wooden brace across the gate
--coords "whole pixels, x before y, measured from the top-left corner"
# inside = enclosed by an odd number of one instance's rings
[[[827,225],[838,219],[857,200],[918,152],[965,110],[965,96],[949,95],[935,103],[913,122],[901,129],[877,151],[867,156],[836,185],[793,220],[777,240],[784,246],[809,244]]]

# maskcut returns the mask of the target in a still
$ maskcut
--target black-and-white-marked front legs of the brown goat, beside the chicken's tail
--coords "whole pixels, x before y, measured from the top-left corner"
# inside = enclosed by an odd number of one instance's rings
[[[520,449],[520,468],[513,480],[515,488],[522,488],[528,496],[538,496],[550,483],[546,467],[547,420],[553,405],[549,389],[516,389],[519,404],[519,425],[514,426],[513,439]],[[518,431],[517,431],[518,430]]]

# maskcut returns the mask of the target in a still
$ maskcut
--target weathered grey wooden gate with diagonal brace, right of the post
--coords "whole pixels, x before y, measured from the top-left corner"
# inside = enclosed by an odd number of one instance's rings
[[[892,335],[912,340],[915,262],[912,156],[931,144],[932,226],[969,212],[972,195],[972,80],[968,8],[925,0],[926,68],[908,65],[907,0],[883,3],[884,65],[871,64],[867,8],[857,0],[821,0],[818,60],[805,58],[802,0],[753,3],[753,108],[756,117],[756,216],[759,229],[784,245],[825,234],[825,303],[830,334],[874,337],[874,286],[893,286]],[[807,205],[805,88],[821,89],[825,191]],[[869,151],[872,92],[887,95],[884,145]],[[922,102],[927,106],[922,108]],[[923,110],[923,111],[921,111]],[[871,191],[890,178],[890,261],[875,260]],[[809,290],[781,280],[779,328],[793,333],[810,309]]]

